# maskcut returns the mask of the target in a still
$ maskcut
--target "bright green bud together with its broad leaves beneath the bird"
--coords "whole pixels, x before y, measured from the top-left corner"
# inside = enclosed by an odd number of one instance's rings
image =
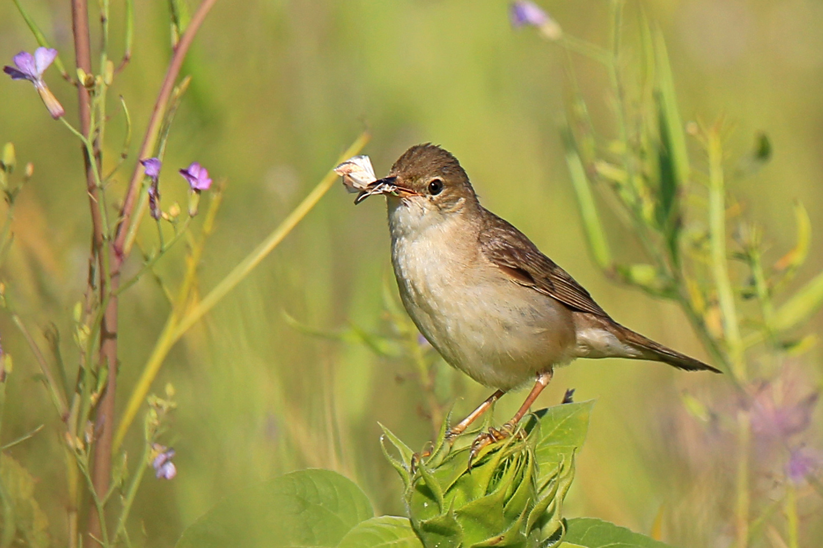
[[[481,449],[471,467],[477,432],[447,440],[444,422],[435,446],[421,457],[384,428],[384,444],[399,454],[384,447],[402,478],[409,518],[372,517],[353,482],[309,469],[223,500],[188,527],[177,546],[598,548],[611,540],[626,548],[663,548],[611,523],[563,518],[574,455],[592,407],[584,402],[541,409],[524,419],[516,435]]]

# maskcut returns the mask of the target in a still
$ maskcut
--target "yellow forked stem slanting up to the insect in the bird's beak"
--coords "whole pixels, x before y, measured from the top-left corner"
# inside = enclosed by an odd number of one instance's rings
[[[188,28],[190,29],[193,24],[192,22]],[[186,32],[188,33],[188,30]],[[337,163],[360,153],[360,150],[363,149],[369,139],[370,135],[367,132],[362,133],[355,142],[351,144],[348,150],[342,154]],[[146,366],[143,367],[140,379],[137,380],[132,395],[128,399],[126,409],[123,412],[123,418],[120,420],[118,426],[117,435],[114,438],[115,450],[123,443],[123,438],[125,438],[128,427],[131,425],[134,417],[137,416],[137,411],[140,409],[149,389],[151,389],[151,383],[155,380],[157,372],[160,371],[160,366],[163,365],[163,361],[170,349],[174,346],[174,343],[176,343],[189,328],[196,324],[203,315],[212,310],[212,307],[215,306],[217,302],[220,302],[221,298],[226,296],[226,293],[230,292],[238,283],[245,279],[254,267],[259,265],[260,261],[271,253],[272,250],[283,241],[283,238],[291,233],[292,229],[297,226],[297,223],[300,223],[300,220],[317,205],[320,198],[328,192],[328,189],[332,187],[332,184],[336,180],[337,173],[330,170],[326,176],[323,177],[323,180],[318,183],[317,187],[314,187],[314,190],[309,192],[309,195],[292,210],[286,219],[283,219],[263,242],[260,242],[244,260],[240,261],[226,278],[222,279],[220,283],[217,283],[216,287],[208,292],[201,302],[192,306],[184,314],[184,304],[188,301],[188,292],[190,291],[190,285],[193,283],[193,277],[199,262],[199,258],[195,257],[195,251],[192,252],[188,272],[184,278],[184,286],[179,292],[178,306],[174,307],[174,310],[172,310],[169,315],[169,319],[166,320],[163,332],[160,334],[160,338],[157,339],[155,348],[152,350],[148,361],[146,361]]]

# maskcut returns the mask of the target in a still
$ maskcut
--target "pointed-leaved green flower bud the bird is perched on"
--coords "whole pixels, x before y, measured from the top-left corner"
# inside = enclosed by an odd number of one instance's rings
[[[444,426],[436,448],[420,459],[384,428],[384,440],[401,459],[385,446],[384,454],[405,484],[409,518],[423,546],[559,546],[563,500],[591,405],[567,403],[534,413],[513,436],[482,449],[471,469],[476,431],[446,442]]]

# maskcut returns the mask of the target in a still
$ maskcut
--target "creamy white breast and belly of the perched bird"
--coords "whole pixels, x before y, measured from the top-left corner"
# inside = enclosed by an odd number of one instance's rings
[[[452,366],[494,388],[514,388],[568,361],[574,349],[568,309],[507,278],[460,220],[416,231],[392,227],[400,296],[421,333]]]

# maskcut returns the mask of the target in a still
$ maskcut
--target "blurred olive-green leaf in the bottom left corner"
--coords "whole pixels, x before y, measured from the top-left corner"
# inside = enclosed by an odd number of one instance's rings
[[[49,522],[35,500],[35,478],[15,459],[0,454],[0,544],[31,548],[51,544]]]

